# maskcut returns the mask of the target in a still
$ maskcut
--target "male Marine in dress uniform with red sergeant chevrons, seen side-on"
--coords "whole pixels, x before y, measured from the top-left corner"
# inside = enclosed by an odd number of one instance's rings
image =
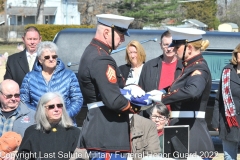
[[[113,14],[97,15],[96,35],[85,49],[79,65],[78,80],[88,106],[82,126],[80,148],[90,159],[120,157],[130,152],[129,113],[139,112],[120,92],[124,87],[121,72],[110,56],[128,34],[131,17]],[[145,94],[138,86],[136,93]],[[141,92],[142,91],[142,92]],[[138,96],[141,96],[138,95]]]

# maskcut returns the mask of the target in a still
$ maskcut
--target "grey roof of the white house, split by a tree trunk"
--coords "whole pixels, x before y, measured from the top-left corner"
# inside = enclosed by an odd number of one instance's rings
[[[55,15],[57,7],[44,7],[43,15]],[[37,7],[11,7],[7,10],[9,15],[35,16]]]

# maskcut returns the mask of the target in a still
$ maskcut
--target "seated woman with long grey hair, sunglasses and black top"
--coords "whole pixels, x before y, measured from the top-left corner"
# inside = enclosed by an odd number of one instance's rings
[[[40,98],[35,122],[26,129],[16,159],[70,159],[80,130],[73,126],[60,93]]]

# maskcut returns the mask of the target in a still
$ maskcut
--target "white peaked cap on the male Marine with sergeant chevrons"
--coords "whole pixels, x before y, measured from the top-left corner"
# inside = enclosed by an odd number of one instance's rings
[[[127,30],[130,23],[133,22],[133,17],[119,16],[115,14],[98,14],[97,21],[103,25],[113,27],[125,35],[129,35]]]

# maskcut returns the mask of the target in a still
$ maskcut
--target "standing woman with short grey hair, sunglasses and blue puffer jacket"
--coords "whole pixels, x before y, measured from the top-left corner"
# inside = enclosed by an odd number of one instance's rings
[[[45,41],[38,44],[38,62],[23,79],[21,100],[36,110],[40,97],[46,92],[60,92],[63,95],[69,116],[75,122],[75,116],[82,107],[83,98],[76,75],[65,68],[57,55],[55,43]]]

